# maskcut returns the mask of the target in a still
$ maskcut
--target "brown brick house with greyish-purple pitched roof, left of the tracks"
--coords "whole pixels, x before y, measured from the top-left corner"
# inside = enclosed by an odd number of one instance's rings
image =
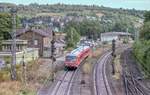
[[[16,32],[18,39],[27,40],[27,46],[38,48],[39,56],[50,57],[52,30],[47,29],[18,29]]]

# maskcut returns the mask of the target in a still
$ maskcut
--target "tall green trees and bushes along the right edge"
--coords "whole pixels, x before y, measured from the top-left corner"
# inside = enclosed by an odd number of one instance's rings
[[[150,12],[145,14],[144,25],[140,31],[140,40],[134,44],[134,55],[150,77]]]

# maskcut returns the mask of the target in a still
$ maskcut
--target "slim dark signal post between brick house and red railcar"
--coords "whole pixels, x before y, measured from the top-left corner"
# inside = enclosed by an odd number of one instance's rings
[[[52,41],[51,41],[51,59],[52,59],[52,82],[54,81],[54,62],[56,61],[54,53],[55,53],[55,33],[52,31]]]

